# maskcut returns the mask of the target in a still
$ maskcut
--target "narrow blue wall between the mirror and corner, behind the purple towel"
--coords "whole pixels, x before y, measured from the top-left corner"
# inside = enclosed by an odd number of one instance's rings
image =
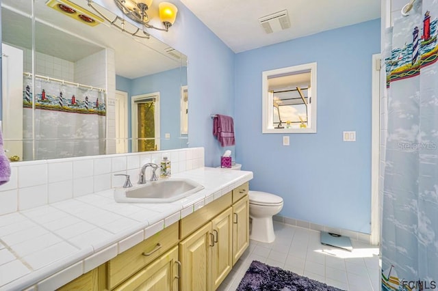
[[[113,12],[119,11],[112,1],[95,2]],[[148,32],[188,56],[189,146],[204,147],[205,165],[217,166],[225,149],[212,135],[213,121],[210,115],[234,115],[235,53],[181,1],[171,2],[178,7],[175,24],[168,32],[153,29]],[[151,20],[153,25],[161,25],[154,21]],[[230,149],[234,150],[234,147]]]

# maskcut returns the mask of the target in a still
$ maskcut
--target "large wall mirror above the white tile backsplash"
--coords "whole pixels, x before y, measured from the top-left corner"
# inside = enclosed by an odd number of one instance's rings
[[[88,4],[1,0],[7,156],[114,154],[140,150],[140,143],[147,150],[187,147],[187,57],[153,37],[132,36],[137,27],[129,20],[118,19],[125,31],[117,29],[99,16],[116,19],[113,12]],[[131,98],[143,95],[152,97]]]

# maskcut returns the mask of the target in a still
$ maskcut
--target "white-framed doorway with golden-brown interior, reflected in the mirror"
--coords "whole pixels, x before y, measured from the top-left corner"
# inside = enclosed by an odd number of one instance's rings
[[[159,150],[159,92],[132,96],[132,150]]]

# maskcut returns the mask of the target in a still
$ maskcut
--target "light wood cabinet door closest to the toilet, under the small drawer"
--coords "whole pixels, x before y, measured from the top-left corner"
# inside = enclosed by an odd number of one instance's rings
[[[249,198],[233,205],[233,266],[249,245]]]

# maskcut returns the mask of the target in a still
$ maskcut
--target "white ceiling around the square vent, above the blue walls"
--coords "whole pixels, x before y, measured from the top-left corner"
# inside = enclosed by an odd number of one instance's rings
[[[181,0],[235,53],[381,17],[380,0]],[[267,34],[258,18],[287,10],[291,27]]]

